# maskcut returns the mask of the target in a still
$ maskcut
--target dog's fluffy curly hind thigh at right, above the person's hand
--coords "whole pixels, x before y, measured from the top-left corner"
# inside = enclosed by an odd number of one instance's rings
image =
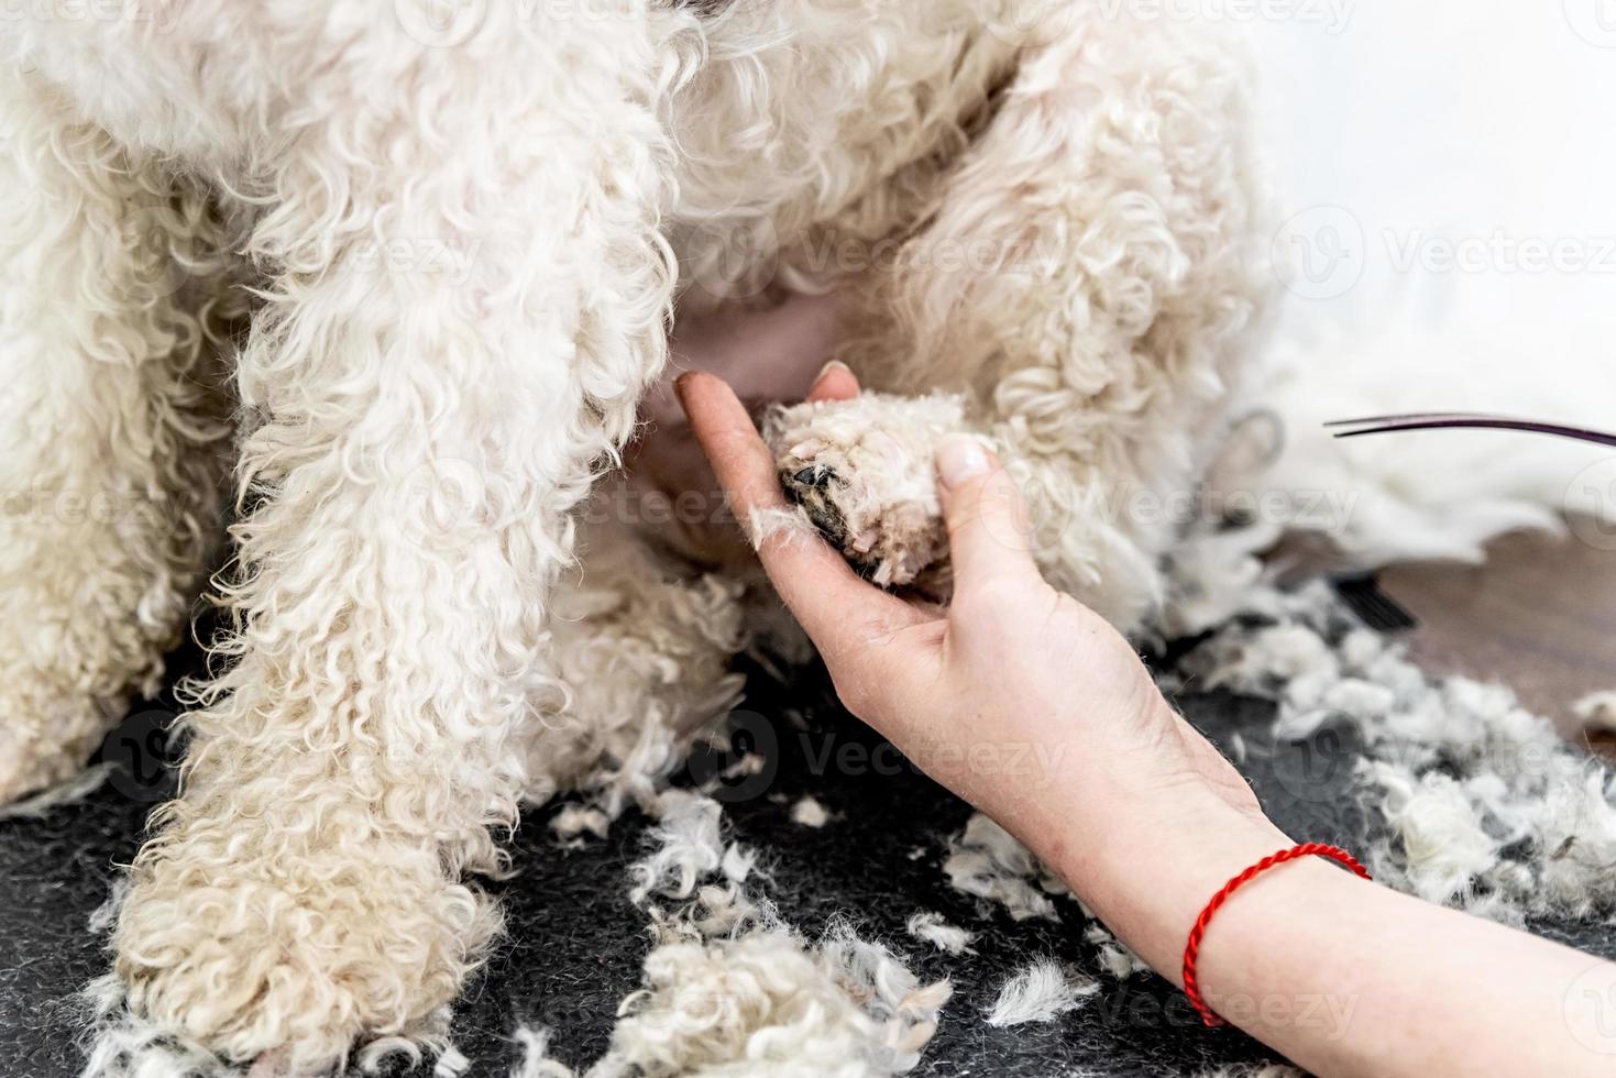
[[[847,359],[876,390],[965,391],[1023,485],[1044,574],[1131,629],[1267,288],[1249,91],[1212,26],[1023,6],[1047,21],[865,291]]]

